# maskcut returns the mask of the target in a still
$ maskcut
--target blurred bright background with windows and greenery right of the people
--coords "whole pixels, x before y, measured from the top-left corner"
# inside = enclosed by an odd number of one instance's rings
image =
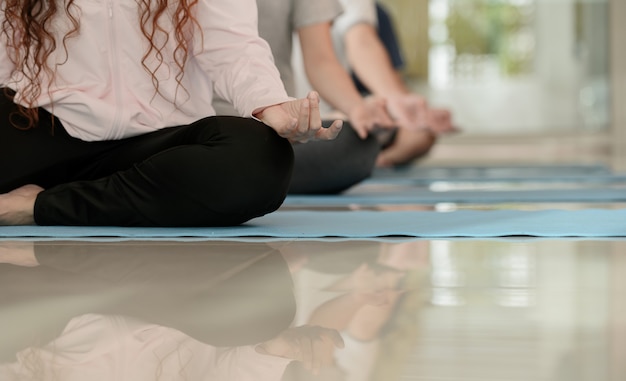
[[[462,133],[425,163],[602,163],[626,170],[626,2],[380,0],[404,75]]]

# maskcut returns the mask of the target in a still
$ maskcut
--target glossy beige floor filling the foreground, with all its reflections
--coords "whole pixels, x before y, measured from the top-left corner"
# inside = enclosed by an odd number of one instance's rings
[[[624,380],[624,254],[625,240],[0,241],[0,379]]]

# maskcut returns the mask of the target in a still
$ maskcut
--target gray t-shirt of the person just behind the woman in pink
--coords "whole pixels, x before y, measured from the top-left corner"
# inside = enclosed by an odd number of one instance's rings
[[[259,35],[272,48],[274,61],[287,94],[295,96],[291,54],[292,36],[298,29],[333,21],[342,12],[339,0],[257,0]],[[214,99],[218,115],[237,115],[234,108],[222,99]]]

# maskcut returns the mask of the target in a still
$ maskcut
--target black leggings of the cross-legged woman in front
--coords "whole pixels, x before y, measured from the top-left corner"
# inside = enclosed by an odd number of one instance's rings
[[[16,128],[16,111],[0,96],[0,193],[45,188],[39,225],[237,225],[276,210],[289,187],[291,145],[253,119],[209,117],[85,142],[43,109],[36,128]]]

